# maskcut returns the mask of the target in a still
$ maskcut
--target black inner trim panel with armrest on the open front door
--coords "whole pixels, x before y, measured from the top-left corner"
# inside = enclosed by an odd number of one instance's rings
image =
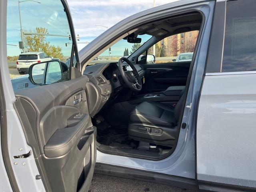
[[[88,112],[87,80],[81,76],[16,92],[28,144],[51,191],[88,190],[92,179],[96,128]]]

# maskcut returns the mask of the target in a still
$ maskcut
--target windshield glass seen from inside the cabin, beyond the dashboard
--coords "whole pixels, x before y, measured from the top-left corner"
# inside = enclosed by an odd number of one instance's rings
[[[121,57],[128,58],[151,37],[152,36],[147,34],[138,35],[138,38],[141,38],[141,43],[128,43],[127,40],[121,39],[116,44],[105,50],[102,54],[98,55],[98,57],[94,58],[89,65],[104,62],[118,62]]]

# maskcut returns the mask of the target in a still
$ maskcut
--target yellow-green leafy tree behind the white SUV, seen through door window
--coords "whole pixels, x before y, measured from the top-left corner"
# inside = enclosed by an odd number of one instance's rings
[[[37,27],[36,32],[37,34],[49,34],[48,30],[43,27]],[[50,42],[46,41],[46,36],[44,35],[31,35],[25,36],[25,47],[29,52],[35,51],[42,51],[46,53],[48,56],[53,58],[59,58],[63,60],[63,53],[62,48],[60,46],[50,45]]]

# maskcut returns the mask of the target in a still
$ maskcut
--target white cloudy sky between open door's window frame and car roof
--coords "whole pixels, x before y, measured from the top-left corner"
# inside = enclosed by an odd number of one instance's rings
[[[156,6],[177,0],[156,0]],[[153,7],[153,0],[68,0],[76,34],[92,40],[124,18]]]

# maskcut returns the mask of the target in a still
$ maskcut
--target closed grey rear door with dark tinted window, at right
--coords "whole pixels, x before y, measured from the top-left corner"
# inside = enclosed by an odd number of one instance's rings
[[[216,3],[196,126],[200,189],[256,191],[255,6]]]

